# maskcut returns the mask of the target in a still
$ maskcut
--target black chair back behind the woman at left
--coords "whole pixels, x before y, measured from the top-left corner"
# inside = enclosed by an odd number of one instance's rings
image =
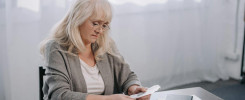
[[[42,66],[39,66],[39,100],[43,100],[43,77],[45,76],[45,69]]]

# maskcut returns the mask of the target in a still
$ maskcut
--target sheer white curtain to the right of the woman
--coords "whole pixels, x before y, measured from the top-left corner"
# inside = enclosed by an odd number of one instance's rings
[[[115,10],[111,35],[144,85],[166,89],[239,78],[241,45],[234,46],[241,43],[236,30],[241,35],[243,24],[236,23],[237,1],[111,1]],[[244,10],[239,11],[243,16]],[[242,22],[242,17],[238,20]]]

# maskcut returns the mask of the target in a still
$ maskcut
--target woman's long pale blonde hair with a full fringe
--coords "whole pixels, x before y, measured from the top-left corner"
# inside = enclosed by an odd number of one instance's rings
[[[91,16],[103,17],[106,21],[111,22],[112,9],[110,3],[107,0],[76,0],[65,17],[54,26],[51,35],[41,42],[40,53],[43,56],[45,55],[45,46],[51,40],[67,48],[62,50],[66,53],[76,55],[78,52],[83,52],[85,46],[80,35],[79,26]],[[99,56],[106,52],[112,55],[116,54],[112,48],[112,46],[115,47],[115,44],[109,37],[108,31],[105,31],[97,39],[96,44],[99,47],[94,52],[96,60],[99,60]]]

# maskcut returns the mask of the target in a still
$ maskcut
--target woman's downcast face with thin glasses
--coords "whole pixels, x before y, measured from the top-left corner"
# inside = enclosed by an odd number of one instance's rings
[[[79,26],[81,38],[85,45],[94,43],[107,29],[108,22],[98,18],[88,18]]]

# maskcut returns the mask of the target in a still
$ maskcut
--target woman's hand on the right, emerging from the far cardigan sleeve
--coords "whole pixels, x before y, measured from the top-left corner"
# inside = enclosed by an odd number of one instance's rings
[[[128,88],[128,94],[133,95],[133,94],[137,94],[140,92],[146,92],[146,90],[147,90],[147,88],[145,88],[145,87],[141,87],[138,85],[132,85]],[[149,95],[140,97],[137,100],[150,100],[150,97],[151,97],[151,95],[149,94]]]

